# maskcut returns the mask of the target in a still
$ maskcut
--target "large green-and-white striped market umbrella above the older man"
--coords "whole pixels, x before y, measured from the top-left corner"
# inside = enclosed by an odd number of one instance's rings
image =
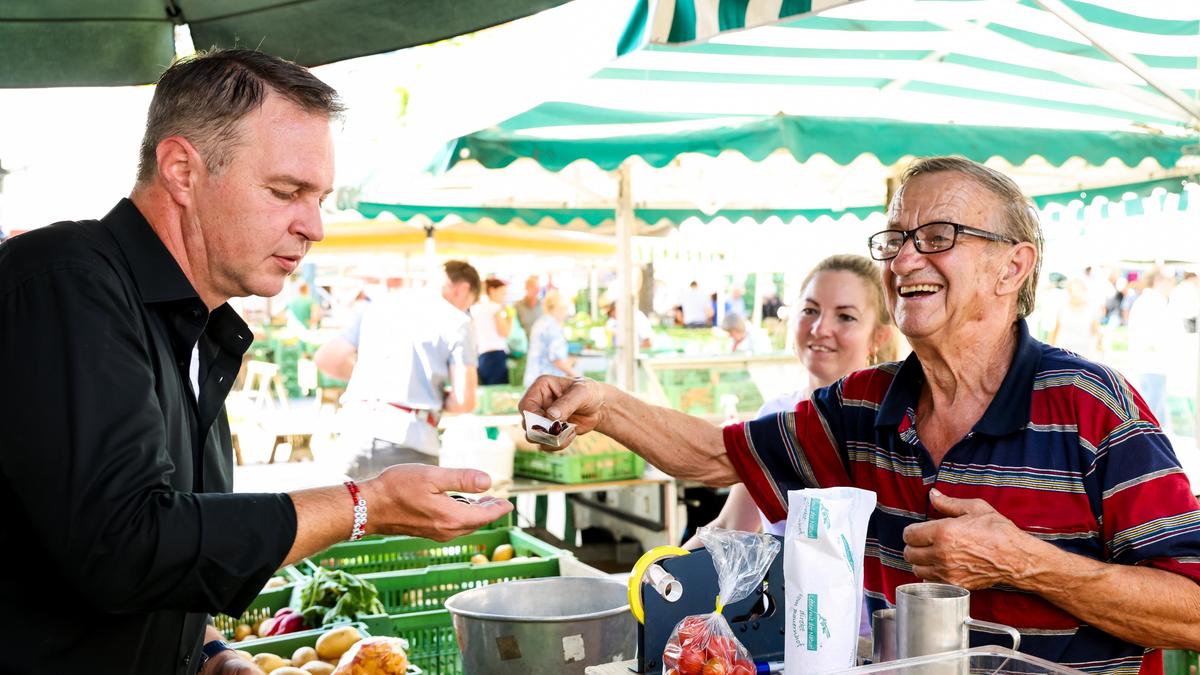
[[[668,42],[686,38],[672,26],[686,25],[689,12],[701,26],[695,35],[726,28],[720,18],[730,5],[743,8],[742,25],[762,23],[746,19],[755,2],[721,2],[716,19],[702,16],[716,4],[666,5],[676,11],[671,22],[635,17],[619,41],[624,56],[554,100],[458,139],[443,166],[612,172],[598,196],[616,203],[626,235],[635,204],[652,195],[643,175],[680,175],[674,183],[698,187],[708,210],[764,205],[706,180],[731,155],[817,165],[821,175],[793,174],[800,179],[780,192],[809,187],[815,202],[775,197],[774,205],[797,209],[882,207],[888,184],[917,155],[962,154],[1018,174],[1027,167],[1049,180],[1026,190],[1043,193],[1159,179],[1182,186],[1196,171],[1193,1],[1117,11],[1074,0],[863,0],[708,42],[656,44],[664,25]],[[796,7],[775,8],[778,19]],[[830,163],[853,171],[824,171]],[[757,183],[730,185],[745,191]],[[874,191],[870,201],[863,190]],[[365,189],[364,201],[388,202],[371,196]]]

